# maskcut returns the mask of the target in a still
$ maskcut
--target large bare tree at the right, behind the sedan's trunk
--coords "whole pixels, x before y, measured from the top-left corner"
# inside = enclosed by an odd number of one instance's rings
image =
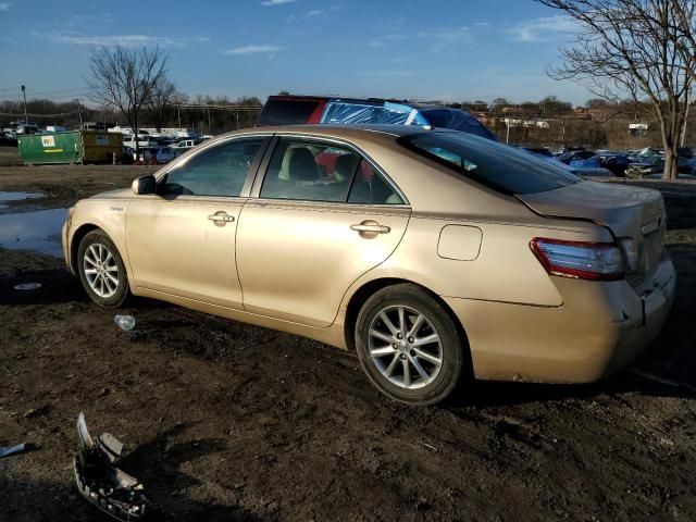
[[[675,5],[694,0],[536,1],[562,11],[577,25],[574,42],[561,49],[563,64],[549,76],[584,80],[593,94],[611,101],[627,95],[646,108],[660,125],[663,176],[676,177],[694,75],[680,27],[683,11]]]

